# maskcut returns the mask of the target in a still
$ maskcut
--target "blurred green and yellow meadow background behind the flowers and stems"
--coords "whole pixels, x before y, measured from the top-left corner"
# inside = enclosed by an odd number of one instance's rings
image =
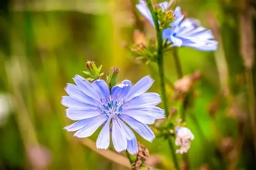
[[[157,1],[154,1],[156,3]],[[159,1],[160,2],[160,1]],[[242,0],[179,1],[187,17],[211,29],[219,48],[200,52],[182,47],[178,54],[185,75],[198,70],[187,126],[195,135],[188,152],[189,169],[256,169],[251,117],[255,113],[255,45],[244,45],[243,33],[255,27],[255,3]],[[247,2],[247,0],[246,0]],[[113,147],[95,150],[95,133],[77,139],[63,130],[72,123],[60,104],[67,83],[87,60],[120,68],[119,82],[138,81],[150,74],[150,91],[160,92],[156,65],[145,65],[127,48],[134,30],[155,36],[154,28],[136,11],[133,0],[2,0],[0,10],[0,169],[129,169]],[[252,17],[243,19],[243,11]],[[248,18],[251,22],[248,21]],[[243,24],[245,23],[245,24]],[[246,41],[255,34],[245,35]],[[241,51],[245,53],[241,53]],[[243,55],[243,56],[242,56]],[[245,67],[244,63],[250,66]],[[164,57],[166,77],[175,82],[172,54]],[[249,75],[249,76],[248,76]],[[254,81],[254,84],[253,84]],[[252,85],[252,86],[251,86]],[[166,85],[170,107],[175,91]],[[179,112],[178,112],[179,114]],[[179,116],[173,120],[177,122]],[[255,118],[255,117],[254,117]],[[252,121],[253,122],[253,121]],[[256,131],[256,129],[254,129]],[[150,151],[148,164],[174,169],[167,141],[153,143],[138,137]],[[114,155],[113,155],[114,154]],[[181,167],[182,157],[178,155]],[[125,167],[126,166],[126,167]],[[129,162],[128,162],[129,166]],[[153,168],[154,169],[154,168]],[[183,167],[183,169],[186,169]]]

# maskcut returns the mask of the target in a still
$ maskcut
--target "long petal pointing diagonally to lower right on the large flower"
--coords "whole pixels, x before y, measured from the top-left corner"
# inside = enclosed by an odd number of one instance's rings
[[[120,114],[119,117],[122,118],[124,122],[131,126],[144,139],[151,142],[154,140],[155,134],[147,125],[142,124],[138,122],[138,120],[136,120],[135,118],[127,116],[125,114]]]

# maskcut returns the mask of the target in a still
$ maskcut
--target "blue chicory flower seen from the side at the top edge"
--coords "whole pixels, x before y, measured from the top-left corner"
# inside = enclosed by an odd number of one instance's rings
[[[168,9],[168,2],[158,4],[162,10]],[[153,17],[146,3],[140,0],[136,5],[140,13],[154,25]],[[173,43],[173,46],[188,46],[201,51],[216,51],[218,41],[214,40],[214,36],[210,30],[201,27],[198,22],[191,18],[184,19],[181,8],[176,7],[174,10],[174,21],[170,23],[171,28],[163,30],[163,39]]]

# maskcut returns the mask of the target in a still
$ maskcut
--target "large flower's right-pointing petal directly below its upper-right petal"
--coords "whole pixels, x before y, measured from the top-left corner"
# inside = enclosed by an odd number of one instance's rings
[[[131,99],[129,102],[126,102],[125,106],[156,106],[159,103],[161,103],[161,97],[158,93],[147,92]]]

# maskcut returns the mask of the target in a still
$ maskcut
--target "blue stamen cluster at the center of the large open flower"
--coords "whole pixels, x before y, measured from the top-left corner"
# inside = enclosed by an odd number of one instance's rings
[[[110,96],[110,98],[100,99],[100,101],[104,109],[102,107],[98,107],[98,108],[102,114],[105,114],[108,117],[113,117],[115,115],[122,113],[122,109],[124,105],[124,102],[122,100],[121,101],[113,100]]]

